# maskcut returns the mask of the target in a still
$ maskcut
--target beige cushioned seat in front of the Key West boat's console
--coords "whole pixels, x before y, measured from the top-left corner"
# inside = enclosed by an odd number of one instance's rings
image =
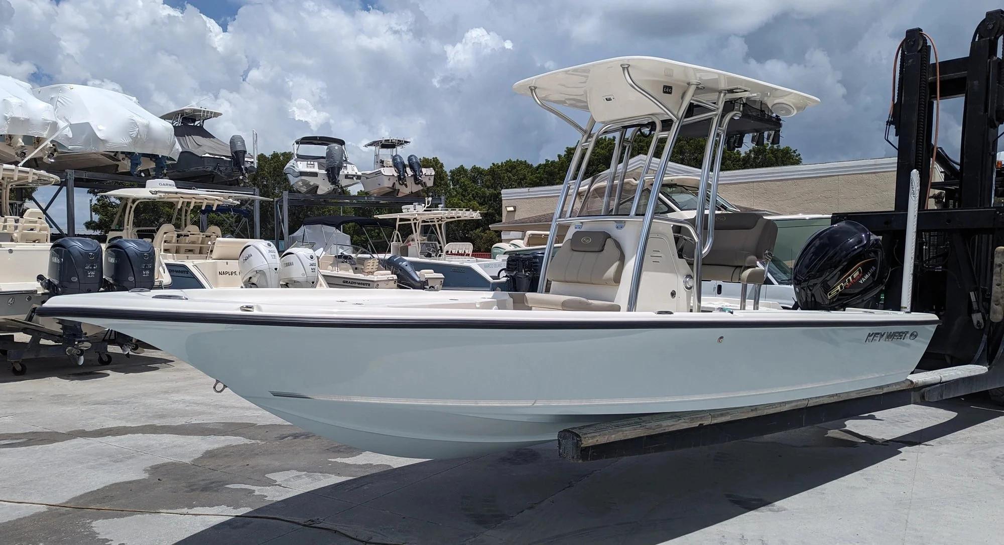
[[[601,230],[580,230],[561,245],[547,265],[547,280],[562,284],[617,286],[623,270],[624,255],[620,245]],[[620,306],[608,301],[596,301],[560,294],[526,294],[531,310],[546,311],[620,311]]]

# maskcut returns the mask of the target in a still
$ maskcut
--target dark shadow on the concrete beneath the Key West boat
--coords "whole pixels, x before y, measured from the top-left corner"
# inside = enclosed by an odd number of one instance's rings
[[[329,530],[235,518],[179,543],[656,544],[751,511],[784,511],[776,505],[781,500],[894,458],[904,460],[912,446],[1001,415],[959,401],[938,407],[955,414],[887,440],[842,430],[845,422],[834,422],[617,461],[566,462],[557,458],[554,443],[477,459],[433,460],[247,513],[309,520]]]

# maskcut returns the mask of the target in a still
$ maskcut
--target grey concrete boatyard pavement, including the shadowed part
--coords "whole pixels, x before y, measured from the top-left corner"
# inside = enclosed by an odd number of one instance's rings
[[[128,362],[0,377],[0,499],[25,502],[0,502],[2,541],[919,544],[1004,533],[1004,413],[981,398],[617,461],[562,461],[549,443],[425,462],[304,433],[213,394],[212,379],[161,353]]]

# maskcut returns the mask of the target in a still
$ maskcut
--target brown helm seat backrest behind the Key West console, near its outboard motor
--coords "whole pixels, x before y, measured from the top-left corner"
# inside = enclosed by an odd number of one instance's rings
[[[689,219],[694,223],[694,218]],[[763,260],[774,248],[777,225],[756,212],[715,214],[715,240],[701,259],[701,280],[740,282],[742,274]],[[694,245],[684,247],[684,256],[694,258]]]

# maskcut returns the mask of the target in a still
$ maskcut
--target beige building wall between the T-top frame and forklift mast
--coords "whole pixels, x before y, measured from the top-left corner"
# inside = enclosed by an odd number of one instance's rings
[[[733,204],[778,213],[889,210],[896,171],[720,183],[718,192]]]

